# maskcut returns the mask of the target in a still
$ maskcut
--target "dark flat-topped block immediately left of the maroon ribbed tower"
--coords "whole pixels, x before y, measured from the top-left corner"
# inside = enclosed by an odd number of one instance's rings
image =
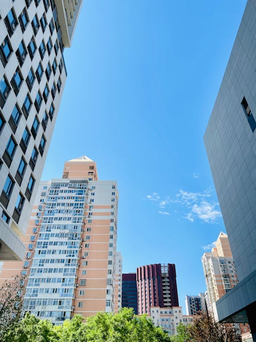
[[[136,273],[122,274],[122,308],[133,308],[138,314],[138,292]]]

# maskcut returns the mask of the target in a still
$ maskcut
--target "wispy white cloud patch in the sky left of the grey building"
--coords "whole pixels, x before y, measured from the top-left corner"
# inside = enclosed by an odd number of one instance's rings
[[[221,217],[219,203],[212,200],[212,190],[206,189],[199,192],[189,192],[180,189],[174,196],[161,198],[157,192],[146,195],[155,206],[159,208],[159,214],[170,215],[169,207],[174,207],[173,212],[181,213],[182,217],[194,222],[199,219],[202,223],[214,224]],[[167,209],[167,210],[166,210]],[[176,210],[179,209],[179,210]]]

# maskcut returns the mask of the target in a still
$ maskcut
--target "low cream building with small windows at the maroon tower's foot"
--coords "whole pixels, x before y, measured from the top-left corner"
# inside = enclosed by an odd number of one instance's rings
[[[177,334],[177,327],[180,324],[187,326],[193,324],[193,315],[183,315],[182,307],[160,308],[151,307],[150,316],[155,326],[162,327],[169,335]]]

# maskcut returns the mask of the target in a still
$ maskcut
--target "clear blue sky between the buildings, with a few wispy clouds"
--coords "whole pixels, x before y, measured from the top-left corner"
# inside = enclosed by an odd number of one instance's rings
[[[61,177],[65,160],[96,160],[99,179],[118,182],[123,273],[176,264],[183,307],[206,290],[201,256],[225,231],[203,134],[245,4],[87,0],[65,51],[42,179]]]

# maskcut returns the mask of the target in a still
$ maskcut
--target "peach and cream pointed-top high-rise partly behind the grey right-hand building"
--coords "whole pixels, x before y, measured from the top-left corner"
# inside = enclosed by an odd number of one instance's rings
[[[238,283],[227,234],[219,234],[216,247],[203,254],[202,263],[209,300],[208,310],[215,313],[215,302]]]

